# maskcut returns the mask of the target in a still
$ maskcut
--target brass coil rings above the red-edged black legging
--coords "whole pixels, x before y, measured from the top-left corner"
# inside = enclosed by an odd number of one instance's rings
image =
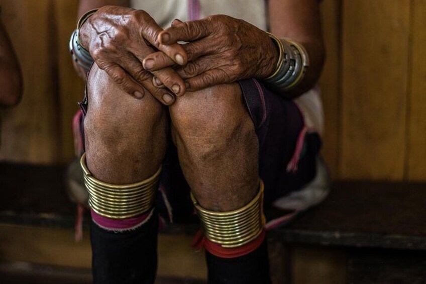
[[[230,212],[214,212],[202,208],[191,193],[192,203],[201,221],[205,237],[224,248],[243,246],[256,239],[263,231],[263,182],[259,192],[246,206]]]

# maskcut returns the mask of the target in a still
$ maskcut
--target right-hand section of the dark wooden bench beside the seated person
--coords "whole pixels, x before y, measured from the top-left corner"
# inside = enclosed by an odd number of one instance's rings
[[[424,183],[336,181],[321,205],[269,238],[345,248],[347,283],[426,283],[425,201]]]

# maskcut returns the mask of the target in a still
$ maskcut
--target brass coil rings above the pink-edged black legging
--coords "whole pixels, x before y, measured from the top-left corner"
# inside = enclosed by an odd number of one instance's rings
[[[84,184],[89,206],[97,214],[111,219],[141,215],[154,206],[161,167],[151,177],[132,184],[111,184],[94,178],[86,166],[86,154],[81,156]]]

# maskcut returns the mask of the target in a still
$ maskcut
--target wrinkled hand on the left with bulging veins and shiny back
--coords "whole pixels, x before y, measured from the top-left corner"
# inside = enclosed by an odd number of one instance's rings
[[[147,72],[143,59],[158,50],[173,58],[171,62],[186,64],[187,55],[179,44],[160,44],[157,40],[162,29],[142,10],[118,6],[104,6],[94,13],[80,28],[80,40],[96,64],[126,92],[136,98],[144,96],[145,89],[165,105],[175,96],[166,89],[152,84],[152,74],[180,96],[185,84],[170,67]]]

